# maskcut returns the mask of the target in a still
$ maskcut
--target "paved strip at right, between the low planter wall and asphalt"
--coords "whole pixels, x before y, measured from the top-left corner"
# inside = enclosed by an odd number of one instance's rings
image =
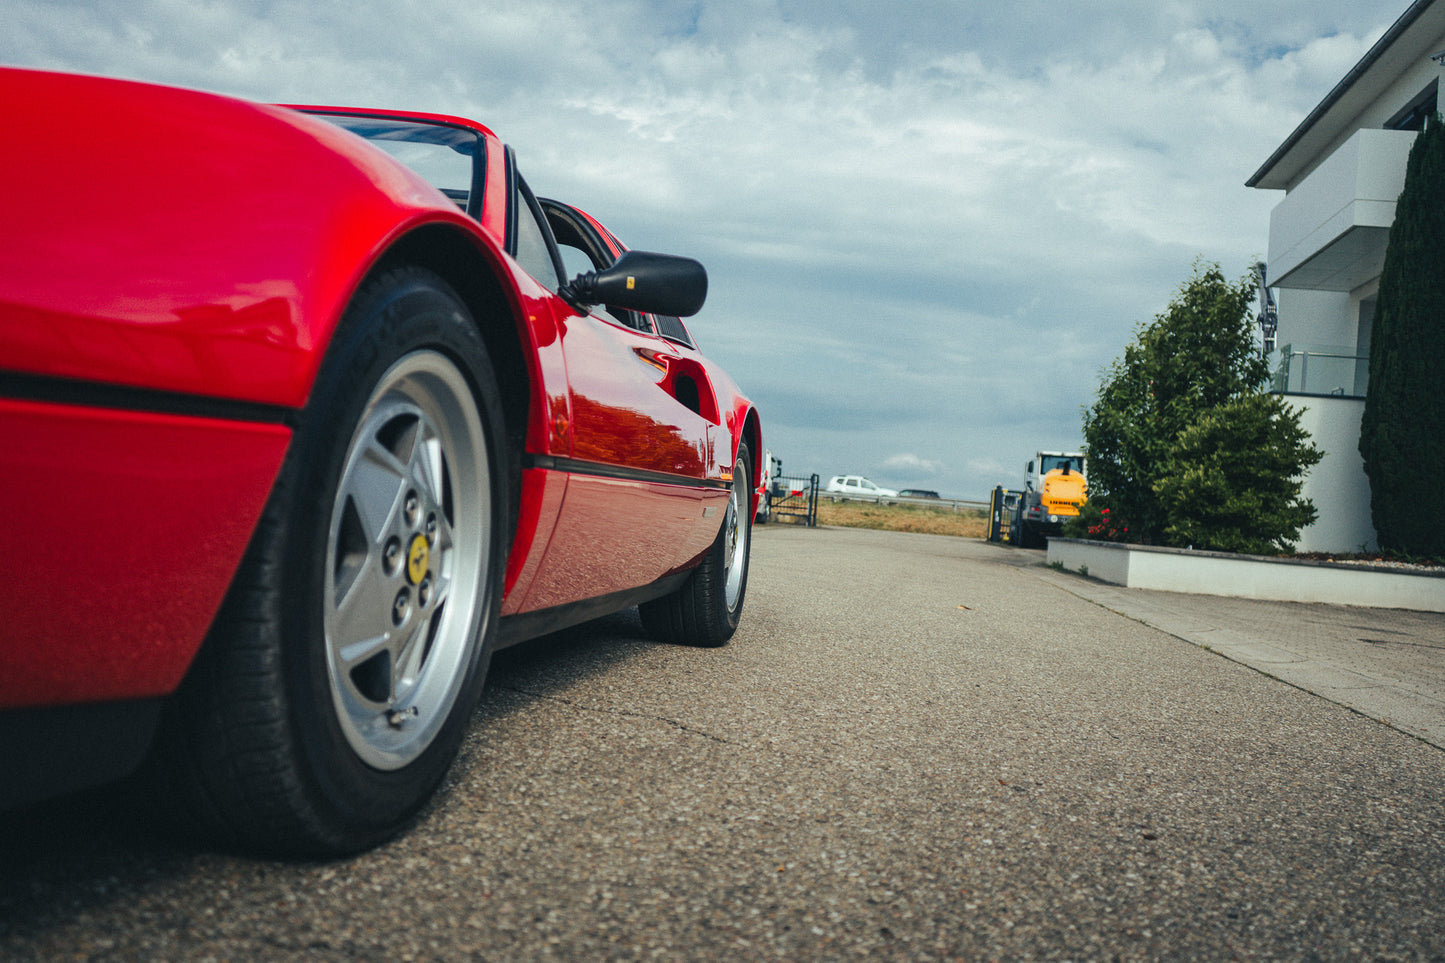
[[[1445,749],[1445,615],[1123,588],[1039,565],[1110,612]]]

